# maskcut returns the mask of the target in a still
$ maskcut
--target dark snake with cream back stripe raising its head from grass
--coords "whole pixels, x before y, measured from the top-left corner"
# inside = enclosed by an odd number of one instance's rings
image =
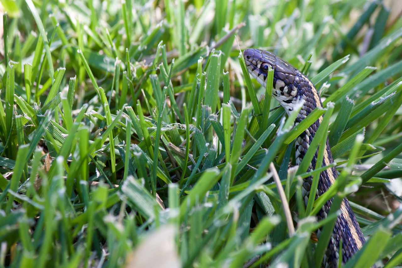
[[[322,107],[322,102],[316,87],[311,80],[291,64],[282,60],[272,52],[254,48],[245,49],[243,52],[244,62],[247,70],[261,86],[267,86],[267,76],[270,68],[274,71],[272,97],[285,109],[289,115],[300,102],[303,102],[295,119],[295,125],[307,117],[315,108]],[[295,162],[299,165],[306,155],[306,152],[316,134],[318,126],[322,122],[322,116],[310,127],[302,132],[295,140]],[[316,151],[308,171],[316,168],[318,150]],[[322,166],[328,166],[334,162],[328,138],[324,148],[324,158]],[[334,166],[320,173],[318,188],[316,190],[317,199],[324,194],[337,178]],[[307,206],[312,177],[306,177],[302,182],[302,197]],[[331,207],[333,198],[328,200],[316,215],[318,220],[326,218]],[[343,198],[340,206],[340,215],[337,217],[334,230],[326,248],[323,267],[338,267],[338,262],[344,265],[365,243],[363,233],[357,223],[356,216],[352,211],[347,198]],[[317,230],[318,239],[320,230]],[[342,252],[341,252],[342,251]],[[341,260],[339,260],[341,258]],[[375,266],[373,266],[375,267]]]

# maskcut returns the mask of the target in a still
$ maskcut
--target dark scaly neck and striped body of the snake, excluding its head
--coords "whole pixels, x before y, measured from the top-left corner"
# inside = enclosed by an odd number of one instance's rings
[[[297,85],[295,85],[295,83],[291,83],[293,81],[293,77],[294,81],[297,81]],[[295,126],[304,120],[314,109],[317,107],[322,107],[321,99],[313,83],[298,70],[296,70],[295,75],[274,72],[273,97],[285,108],[285,111],[288,114],[293,111],[293,108],[297,102],[303,101],[303,107],[301,107],[301,110],[295,119]],[[296,165],[299,165],[304,159],[321,122],[322,116],[304,132],[302,132],[295,140]],[[321,167],[328,166],[334,162],[328,138],[326,143],[323,145],[325,148]],[[317,168],[317,158],[318,149],[316,150],[307,171]],[[335,182],[336,177],[337,172],[335,167],[330,167],[320,173],[315,199],[324,194],[330,188],[330,186]],[[313,177],[311,176],[303,179],[302,196],[306,206],[310,196],[312,183]],[[317,214],[318,220],[327,217],[331,205],[332,199],[328,200],[326,204],[322,206],[321,210]],[[332,233],[326,255],[324,256],[325,267],[328,268],[337,267],[339,254],[336,252],[339,252],[340,241],[343,243],[341,255],[342,264],[345,264],[347,260],[349,260],[349,258],[351,258],[365,242],[363,233],[357,224],[355,214],[353,213],[347,198],[343,199],[340,210],[342,214],[336,219],[335,229]],[[318,230],[318,237],[320,237],[320,233],[321,230]],[[352,235],[353,239],[351,239],[350,235]]]

